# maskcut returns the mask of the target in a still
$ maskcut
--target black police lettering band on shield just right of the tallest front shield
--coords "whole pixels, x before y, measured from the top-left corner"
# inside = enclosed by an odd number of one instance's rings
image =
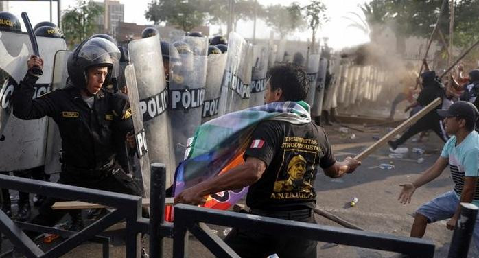
[[[205,101],[205,88],[171,90],[170,99],[172,110],[199,108]]]

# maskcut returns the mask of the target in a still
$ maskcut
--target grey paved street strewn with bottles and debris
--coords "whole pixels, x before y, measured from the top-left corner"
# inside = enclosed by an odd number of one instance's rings
[[[350,125],[360,130],[376,130],[377,132],[359,132],[349,128],[347,134],[339,132],[340,126],[327,126],[329,140],[334,145],[336,159],[342,160],[346,156],[354,156],[367,146],[371,145],[386,134],[391,128],[364,127]],[[355,134],[351,139],[351,134]],[[361,228],[369,231],[390,233],[393,235],[408,236],[412,224],[412,215],[420,204],[427,202],[434,196],[452,189],[452,180],[449,169],[436,178],[429,185],[425,185],[416,191],[411,204],[402,205],[397,201],[400,187],[399,183],[408,182],[416,178],[419,173],[427,169],[439,156],[442,141],[434,134],[430,134],[425,143],[414,143],[411,140],[406,143],[409,152],[403,159],[391,159],[388,148],[384,147],[364,159],[362,166],[354,173],[342,178],[328,178],[318,174],[316,189],[318,191],[318,207],[329,211],[340,218],[344,218]],[[412,153],[412,148],[422,148],[425,154],[422,156]],[[417,159],[423,157],[423,163],[417,163]],[[380,169],[379,164],[388,163],[395,166],[394,169]],[[351,207],[351,198],[357,197],[358,204]],[[316,215],[318,224],[339,226],[335,222]],[[121,228],[121,225],[117,225]],[[223,236],[224,228],[214,227],[218,235]],[[446,257],[449,250],[448,242],[452,237],[452,231],[445,227],[445,221],[428,226],[426,238],[436,244],[436,257]],[[195,239],[190,238],[190,257],[212,257]],[[119,234],[111,241],[110,257],[124,257],[124,245]],[[3,250],[8,249],[8,244],[3,245]],[[172,241],[165,241],[165,257],[171,257]],[[474,250],[472,248],[471,250]],[[386,253],[365,248],[338,246],[334,244],[319,243],[318,257],[392,257],[393,253]],[[469,257],[476,257],[474,252]],[[84,244],[64,257],[101,257],[100,244]]]

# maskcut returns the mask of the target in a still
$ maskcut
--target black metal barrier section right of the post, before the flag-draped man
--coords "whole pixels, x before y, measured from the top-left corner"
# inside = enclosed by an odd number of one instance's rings
[[[268,232],[272,235],[288,232],[288,236],[291,237],[303,237],[319,242],[386,250],[412,257],[434,257],[434,244],[425,239],[217,211],[185,204],[175,205],[174,220],[173,257],[175,258],[188,257],[187,231],[217,257],[240,257],[218,235],[211,233],[204,223],[244,229],[254,228],[255,231]]]

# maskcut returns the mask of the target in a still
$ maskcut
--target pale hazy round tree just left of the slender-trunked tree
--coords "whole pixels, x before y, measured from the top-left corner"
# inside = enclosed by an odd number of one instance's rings
[[[296,29],[301,29],[306,24],[302,19],[301,12],[291,6],[270,5],[266,8],[265,14],[266,25],[279,32],[281,38]]]

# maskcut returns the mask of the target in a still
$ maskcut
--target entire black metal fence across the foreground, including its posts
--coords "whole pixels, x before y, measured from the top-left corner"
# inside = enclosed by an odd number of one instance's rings
[[[217,257],[239,257],[224,241],[213,233],[207,224],[240,228],[255,228],[271,234],[288,232],[292,237],[302,237],[318,242],[331,242],[376,250],[404,253],[410,257],[434,257],[434,244],[429,240],[398,237],[369,231],[358,231],[332,226],[320,226],[305,222],[246,215],[229,211],[205,209],[186,204],[174,208],[174,224],[164,221],[165,215],[165,166],[152,165],[150,187],[150,219],[141,217],[141,198],[121,193],[111,193],[56,183],[0,175],[0,187],[38,193],[45,196],[80,200],[113,207],[115,210],[87,226],[82,231],[62,231],[27,223],[14,222],[0,210],[0,231],[16,248],[21,248],[26,257],[60,257],[83,242],[100,242],[103,257],[108,257],[108,238],[97,236],[109,226],[126,220],[126,257],[140,257],[140,235],[150,235],[150,257],[163,256],[163,237],[174,238],[173,257],[188,257],[188,231]],[[475,210],[474,210],[475,209]],[[449,257],[467,257],[467,249],[474,229],[477,208],[465,206],[461,216],[468,223],[458,225],[452,239]],[[461,220],[460,220],[461,221]],[[207,223],[207,224],[206,224]],[[58,233],[68,237],[65,242],[43,252],[22,229],[46,233]],[[467,243],[467,244],[465,244]],[[464,250],[466,249],[466,250]]]

